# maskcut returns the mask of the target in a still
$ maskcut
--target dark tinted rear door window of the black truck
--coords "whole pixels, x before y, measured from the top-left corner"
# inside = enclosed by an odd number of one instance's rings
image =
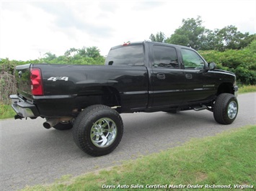
[[[180,68],[174,47],[154,45],[153,60],[153,67]]]

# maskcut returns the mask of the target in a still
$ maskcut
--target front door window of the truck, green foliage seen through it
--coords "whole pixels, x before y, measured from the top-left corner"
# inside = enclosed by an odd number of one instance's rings
[[[181,49],[185,69],[201,70],[204,68],[203,59],[193,50]]]

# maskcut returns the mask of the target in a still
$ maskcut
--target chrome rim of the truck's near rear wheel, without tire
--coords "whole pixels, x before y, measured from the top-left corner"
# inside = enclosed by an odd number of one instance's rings
[[[91,129],[91,141],[100,148],[110,146],[115,141],[118,128],[110,118],[100,118]]]

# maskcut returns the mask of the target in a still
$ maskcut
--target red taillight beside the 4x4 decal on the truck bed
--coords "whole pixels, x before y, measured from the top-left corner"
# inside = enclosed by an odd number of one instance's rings
[[[30,80],[32,95],[43,95],[43,80],[39,68],[32,68],[30,70]]]

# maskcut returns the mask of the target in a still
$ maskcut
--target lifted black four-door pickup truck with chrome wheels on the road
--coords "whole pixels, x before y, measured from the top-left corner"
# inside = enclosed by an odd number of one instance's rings
[[[219,124],[231,124],[238,112],[234,73],[179,45],[125,43],[111,48],[105,65],[28,64],[15,75],[15,118],[40,116],[46,129],[72,128],[77,146],[92,156],[120,143],[120,113],[207,109]]]

